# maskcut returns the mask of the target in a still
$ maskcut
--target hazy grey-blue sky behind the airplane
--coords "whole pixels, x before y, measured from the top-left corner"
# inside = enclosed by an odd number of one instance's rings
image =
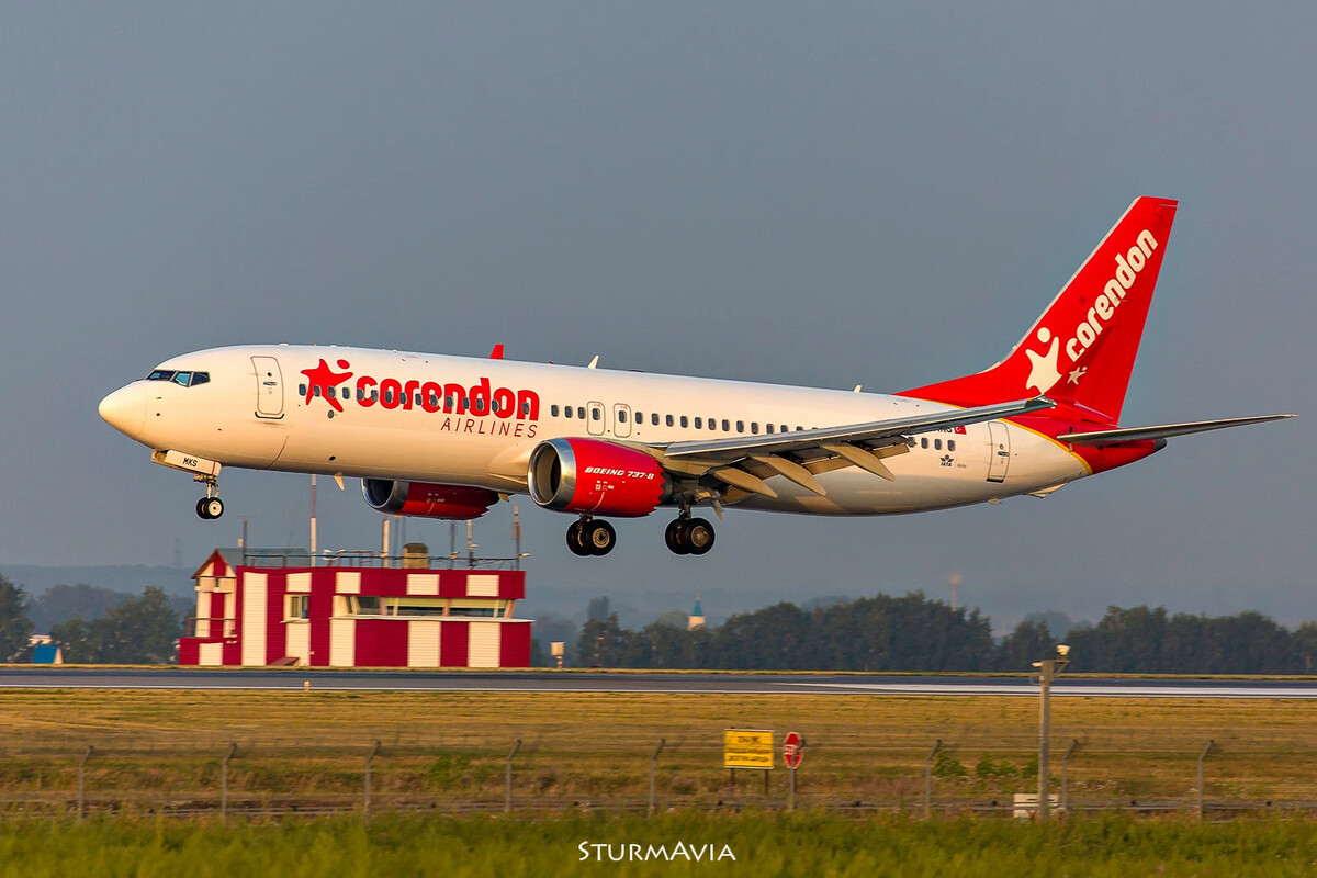
[[[1180,200],[1123,423],[1313,415],[1317,8],[5,4],[0,571],[307,545],[308,478],[227,513],[96,415],[188,350],[341,344],[898,391],[1019,340],[1129,203]],[[519,500],[537,611],[822,595],[1005,623],[1317,619],[1306,420],[1172,440],[1046,500],[666,513],[578,559]],[[320,545],[375,548],[358,486]],[[511,513],[477,521],[508,554]],[[408,523],[446,550],[446,524]],[[465,538],[462,540],[465,542]],[[536,590],[552,600],[535,602]]]

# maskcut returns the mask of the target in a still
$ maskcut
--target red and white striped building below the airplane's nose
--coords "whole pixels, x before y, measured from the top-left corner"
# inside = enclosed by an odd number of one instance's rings
[[[528,667],[520,570],[257,567],[216,549],[192,575],[179,665]]]

